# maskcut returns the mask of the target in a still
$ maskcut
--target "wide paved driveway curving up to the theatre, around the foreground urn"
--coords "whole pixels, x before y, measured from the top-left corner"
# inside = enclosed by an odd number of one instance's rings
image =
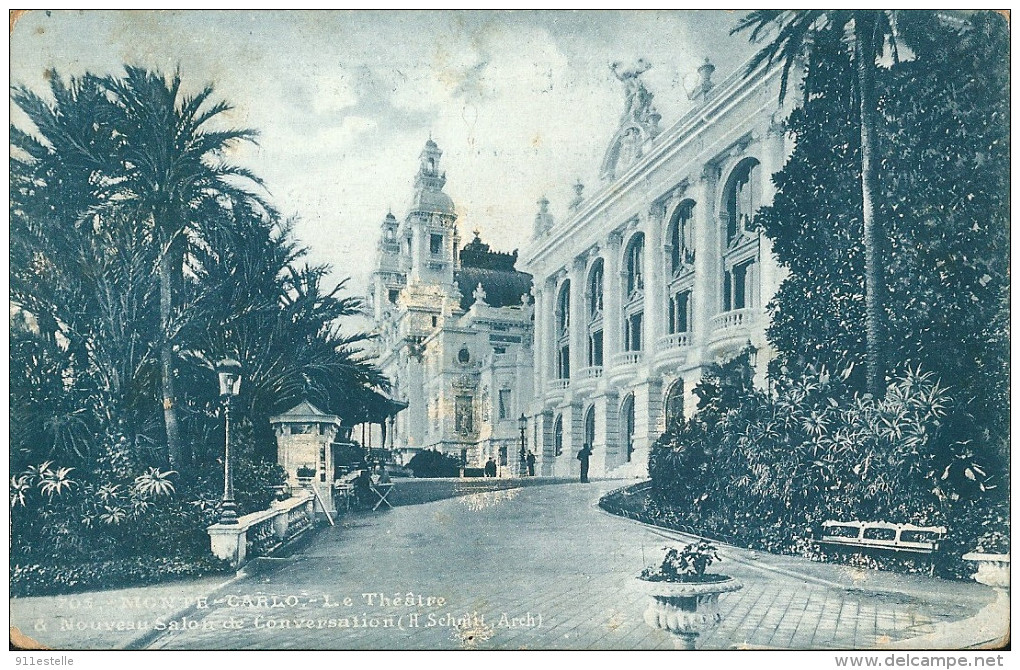
[[[130,637],[190,650],[672,649],[667,633],[645,623],[648,596],[634,577],[685,538],[600,510],[599,497],[621,483],[482,493],[356,516]],[[701,649],[956,648],[988,639],[970,623],[979,615],[1008,626],[1008,610],[992,611],[1003,601],[976,583],[735,548],[721,554],[718,570],[744,588],[720,598],[722,621]],[[14,620],[44,617],[51,601],[11,601]],[[69,649],[111,647],[108,636],[76,634]]]

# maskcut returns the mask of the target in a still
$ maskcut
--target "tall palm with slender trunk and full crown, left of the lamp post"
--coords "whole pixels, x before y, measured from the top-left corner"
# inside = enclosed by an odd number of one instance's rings
[[[227,111],[225,102],[210,103],[212,88],[195,95],[182,91],[180,72],[164,78],[128,66],[122,78],[104,80],[116,110],[117,206],[130,207],[148,223],[158,246],[160,391],[170,466],[182,466],[183,443],[174,383],[174,332],[180,324],[174,294],[180,291],[189,247],[200,243],[201,205],[223,198],[254,198],[240,182],[261,186],[251,172],[222,160],[237,142],[254,142],[249,130],[211,131],[211,120]]]

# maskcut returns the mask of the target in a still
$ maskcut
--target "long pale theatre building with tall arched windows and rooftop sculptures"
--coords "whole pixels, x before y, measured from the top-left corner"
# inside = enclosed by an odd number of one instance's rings
[[[528,431],[542,474],[576,473],[584,444],[594,475],[646,474],[651,444],[695,411],[708,364],[750,343],[760,382],[770,356],[764,307],[781,275],[752,218],[793,149],[779,72],[714,85],[706,60],[690,109],[661,130],[647,67],[614,66],[625,110],[600,188],[582,198],[578,184],[561,220],[540,212],[521,255],[534,286]]]

